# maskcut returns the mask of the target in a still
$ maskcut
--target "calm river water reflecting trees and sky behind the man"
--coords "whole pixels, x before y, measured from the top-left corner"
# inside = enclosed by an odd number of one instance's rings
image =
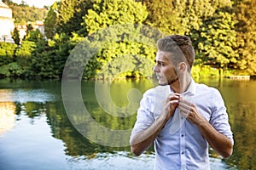
[[[234,133],[230,158],[210,149],[212,169],[255,169],[256,81],[197,82],[221,92]],[[139,100],[152,84],[131,79],[81,82],[81,96],[75,87],[64,89],[68,95],[63,96],[61,81],[0,80],[0,169],[152,169],[153,148],[137,157],[127,145]],[[72,107],[67,108],[67,100],[73,100]],[[90,121],[79,111],[86,111]]]

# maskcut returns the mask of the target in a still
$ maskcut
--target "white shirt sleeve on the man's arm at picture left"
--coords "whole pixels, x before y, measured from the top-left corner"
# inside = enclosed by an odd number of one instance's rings
[[[152,106],[154,105],[151,101],[152,90],[149,90],[143,94],[143,99],[140,102],[140,107],[137,110],[137,122],[131,131],[131,138],[137,133],[147,129],[154,122],[154,113]]]

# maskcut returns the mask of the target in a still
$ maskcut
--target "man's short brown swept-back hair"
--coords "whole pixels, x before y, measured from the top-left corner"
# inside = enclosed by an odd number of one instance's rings
[[[177,65],[179,62],[188,63],[190,69],[194,64],[195,50],[189,37],[181,35],[172,35],[163,37],[158,41],[158,50],[170,52],[172,55],[172,63]]]

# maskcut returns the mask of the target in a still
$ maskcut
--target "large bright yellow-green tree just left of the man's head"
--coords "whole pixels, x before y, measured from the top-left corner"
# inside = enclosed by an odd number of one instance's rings
[[[131,0],[95,1],[83,26],[102,44],[86,65],[84,78],[150,77],[155,51],[143,43],[147,36],[141,32],[147,15],[142,3]]]

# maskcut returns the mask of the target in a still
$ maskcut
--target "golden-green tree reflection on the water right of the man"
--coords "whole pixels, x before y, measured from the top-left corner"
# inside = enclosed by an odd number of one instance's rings
[[[209,80],[207,80],[209,81]],[[237,169],[256,167],[256,81],[236,81],[224,79],[207,84],[219,89],[223,94],[234,133],[233,155],[223,159]],[[212,156],[214,156],[213,153]]]

